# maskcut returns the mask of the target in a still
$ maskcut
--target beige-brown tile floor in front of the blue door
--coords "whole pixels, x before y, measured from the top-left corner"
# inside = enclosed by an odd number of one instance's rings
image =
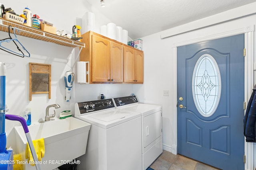
[[[154,170],[220,170],[182,155],[175,155],[163,150],[163,153],[153,162],[150,168]]]

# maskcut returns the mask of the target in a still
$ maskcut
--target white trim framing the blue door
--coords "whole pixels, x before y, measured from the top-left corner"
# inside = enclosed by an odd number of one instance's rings
[[[254,68],[254,25],[248,25],[246,27],[241,27],[240,29],[234,29],[227,32],[222,32],[214,35],[209,35],[206,37],[200,37],[196,39],[190,39],[188,41],[177,42],[172,46],[172,52],[174,56],[174,62],[176,62],[177,68],[177,47],[183,45],[189,45],[194,43],[199,43],[202,41],[208,41],[212,39],[219,39],[224,37],[230,37],[233,35],[238,35],[244,33],[244,47],[246,48],[246,56],[244,58],[244,101],[246,104],[250,100],[252,94],[252,88],[256,83],[254,80],[254,69],[256,70],[256,64]],[[174,75],[176,76],[177,82],[177,69],[175,69]],[[175,85],[177,92],[177,83]],[[177,99],[177,93],[174,96]],[[244,110],[245,113],[246,110]],[[174,127],[174,138],[172,145],[172,153],[177,154],[177,145],[178,145],[178,122],[177,122],[177,109],[174,114],[174,119],[172,119],[172,125]],[[244,143],[244,154],[246,156],[245,170],[254,169],[254,143]]]

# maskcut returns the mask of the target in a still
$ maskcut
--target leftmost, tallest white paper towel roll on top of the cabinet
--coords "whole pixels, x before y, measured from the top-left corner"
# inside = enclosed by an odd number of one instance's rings
[[[95,30],[95,14],[92,12],[86,12],[82,17],[82,34],[87,31]]]

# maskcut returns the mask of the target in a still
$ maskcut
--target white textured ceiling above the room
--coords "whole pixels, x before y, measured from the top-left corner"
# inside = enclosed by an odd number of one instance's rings
[[[205,18],[256,0],[87,0],[132,39]]]

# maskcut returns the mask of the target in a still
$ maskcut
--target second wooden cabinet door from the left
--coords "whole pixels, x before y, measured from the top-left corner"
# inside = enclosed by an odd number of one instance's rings
[[[110,81],[123,82],[124,48],[122,45],[110,41]]]

